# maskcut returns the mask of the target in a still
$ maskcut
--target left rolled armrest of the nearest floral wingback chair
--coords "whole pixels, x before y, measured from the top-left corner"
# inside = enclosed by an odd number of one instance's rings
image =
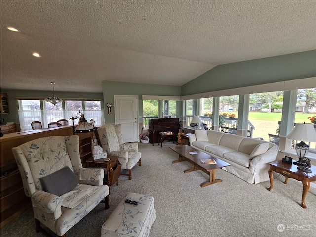
[[[61,197],[40,190],[32,195],[31,200],[32,205],[43,212],[55,213],[57,216],[60,213],[61,215]]]

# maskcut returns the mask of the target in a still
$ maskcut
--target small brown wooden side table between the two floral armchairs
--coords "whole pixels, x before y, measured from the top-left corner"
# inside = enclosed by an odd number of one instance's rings
[[[107,177],[104,177],[103,182],[110,188],[115,182],[117,182],[118,185],[118,178],[122,165],[119,163],[118,157],[116,156],[109,156],[107,158],[110,158],[110,160],[104,161],[105,158],[93,160],[93,157],[91,157],[87,160],[87,167],[106,168],[108,173]]]

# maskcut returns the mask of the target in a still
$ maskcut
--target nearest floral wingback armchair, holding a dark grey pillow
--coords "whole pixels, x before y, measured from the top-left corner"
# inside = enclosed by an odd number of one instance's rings
[[[40,223],[58,236],[65,233],[105,198],[104,170],[82,168],[79,137],[53,136],[12,148],[26,196],[31,197],[36,231]]]

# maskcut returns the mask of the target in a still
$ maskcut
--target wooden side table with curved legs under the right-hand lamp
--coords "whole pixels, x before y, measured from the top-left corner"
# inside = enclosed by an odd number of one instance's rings
[[[284,162],[282,162],[282,160],[278,160],[278,161],[275,161],[275,162],[272,162],[269,164],[270,164],[270,169],[269,169],[270,187],[268,188],[268,190],[270,191],[273,188],[273,177],[272,177],[273,171],[285,176],[284,184],[287,183],[288,178],[302,181],[303,193],[302,193],[301,206],[303,208],[306,208],[305,197],[306,197],[307,191],[310,188],[310,182],[316,181],[316,166],[312,165],[312,167],[310,168],[312,170],[312,173],[306,173],[306,172],[298,169],[297,165],[284,163]]]

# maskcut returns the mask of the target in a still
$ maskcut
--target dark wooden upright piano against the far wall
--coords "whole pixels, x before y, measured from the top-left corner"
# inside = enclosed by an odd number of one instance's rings
[[[153,118],[149,120],[149,141],[153,145],[158,143],[159,132],[169,132],[178,135],[180,129],[179,118]]]

